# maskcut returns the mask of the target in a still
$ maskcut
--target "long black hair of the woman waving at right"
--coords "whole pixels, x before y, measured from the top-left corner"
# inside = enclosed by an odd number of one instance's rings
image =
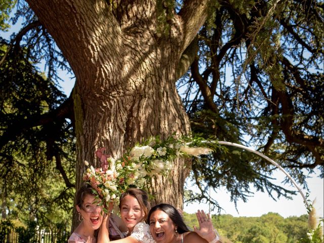
[[[150,212],[148,212],[147,215],[147,222],[150,222],[151,214],[156,210],[163,211],[170,217],[173,223],[177,226],[177,231],[179,232],[179,234],[190,231],[187,225],[184,223],[178,210],[170,204],[158,204],[151,208]]]

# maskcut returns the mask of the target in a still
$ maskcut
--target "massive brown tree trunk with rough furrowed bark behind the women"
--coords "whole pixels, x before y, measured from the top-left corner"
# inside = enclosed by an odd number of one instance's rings
[[[171,11],[168,16],[155,1],[114,6],[103,0],[27,2],[76,76],[76,188],[82,183],[84,160],[96,165],[94,152],[100,147],[119,157],[151,135],[190,132],[175,81],[182,53],[206,20],[207,1],[188,1],[179,15]],[[157,22],[158,16],[165,21]],[[188,174],[184,163],[175,161],[172,180],[158,177],[152,182],[155,203],[182,208]]]

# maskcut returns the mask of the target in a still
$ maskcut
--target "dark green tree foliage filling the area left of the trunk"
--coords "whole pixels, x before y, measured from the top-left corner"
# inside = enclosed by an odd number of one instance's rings
[[[39,31],[35,28],[27,36]],[[44,32],[41,38],[47,37]],[[64,117],[53,120],[53,126],[43,123],[53,119],[51,113],[66,96],[51,71],[45,75],[33,65],[35,53],[24,41],[21,46],[12,43],[14,39],[0,44],[0,136],[8,136],[7,142],[0,141],[0,218],[18,218],[23,223],[36,220],[47,226],[70,224],[74,188],[65,183],[64,176],[74,180],[74,135]],[[38,124],[31,125],[32,120]]]

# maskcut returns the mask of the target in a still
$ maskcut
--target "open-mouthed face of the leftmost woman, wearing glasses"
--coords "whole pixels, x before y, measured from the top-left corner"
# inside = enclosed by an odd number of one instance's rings
[[[94,195],[87,194],[84,197],[81,208],[77,207],[77,211],[83,217],[83,222],[92,229],[98,229],[102,222],[102,207],[97,206],[98,199]]]

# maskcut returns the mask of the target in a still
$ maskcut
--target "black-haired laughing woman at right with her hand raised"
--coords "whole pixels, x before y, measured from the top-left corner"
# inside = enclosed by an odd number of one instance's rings
[[[169,204],[159,204],[151,208],[147,221],[150,232],[160,243],[221,243],[217,231],[213,228],[210,214],[204,211],[196,214],[199,229],[190,231],[183,222],[178,210]]]

